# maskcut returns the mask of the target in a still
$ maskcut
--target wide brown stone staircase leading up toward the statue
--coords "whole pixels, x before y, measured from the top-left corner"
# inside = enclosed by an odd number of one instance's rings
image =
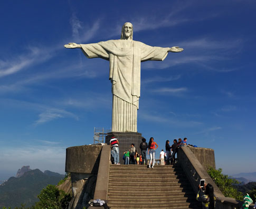
[[[108,205],[127,208],[200,208],[181,167],[110,165]]]

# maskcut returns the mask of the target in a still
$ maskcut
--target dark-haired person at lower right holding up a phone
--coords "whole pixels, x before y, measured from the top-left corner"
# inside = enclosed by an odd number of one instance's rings
[[[204,184],[202,188],[198,186],[199,190],[196,195],[196,200],[202,203],[203,209],[214,209],[214,189],[211,184]]]

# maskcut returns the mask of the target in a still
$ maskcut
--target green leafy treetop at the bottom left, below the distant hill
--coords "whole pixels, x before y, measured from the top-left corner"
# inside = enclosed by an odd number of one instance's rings
[[[65,194],[64,191],[58,190],[54,185],[48,185],[43,188],[37,196],[39,202],[35,204],[35,209],[65,209],[68,208],[71,200],[70,194]]]

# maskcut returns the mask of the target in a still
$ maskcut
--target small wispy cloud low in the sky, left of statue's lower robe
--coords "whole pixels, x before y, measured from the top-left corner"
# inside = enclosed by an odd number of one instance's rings
[[[70,113],[65,110],[58,110],[58,109],[48,109],[45,112],[39,114],[39,119],[35,122],[35,125],[39,125],[42,123],[46,123],[58,118],[64,118],[64,117],[72,117],[75,118],[75,120],[78,120],[78,116],[74,115],[73,113]]]

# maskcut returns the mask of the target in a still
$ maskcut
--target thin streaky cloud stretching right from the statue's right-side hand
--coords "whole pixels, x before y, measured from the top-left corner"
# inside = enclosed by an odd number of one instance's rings
[[[164,45],[169,46],[170,43]],[[173,54],[169,53],[164,62],[146,62],[141,65],[141,68],[145,69],[166,69],[176,65],[184,64],[196,64],[207,71],[215,72],[232,72],[238,71],[241,67],[226,67],[225,65],[220,67],[212,67],[211,63],[221,61],[231,61],[233,56],[240,53],[243,49],[243,41],[241,39],[229,39],[221,41],[201,38],[192,39],[186,42],[177,43],[178,46],[184,48],[184,52],[178,54],[173,59]],[[230,66],[230,65],[229,65]]]

